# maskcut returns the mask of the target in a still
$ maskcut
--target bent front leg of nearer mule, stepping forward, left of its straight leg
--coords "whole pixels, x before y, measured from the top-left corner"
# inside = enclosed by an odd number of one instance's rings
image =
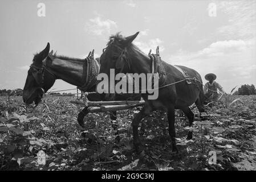
[[[145,105],[138,114],[135,115],[132,121],[132,131],[133,131],[133,144],[135,146],[135,150],[137,154],[143,154],[144,150],[141,146],[140,138],[139,138],[139,132],[138,127],[140,124],[141,119],[143,119],[145,116],[147,116],[151,112],[151,107],[148,105]]]

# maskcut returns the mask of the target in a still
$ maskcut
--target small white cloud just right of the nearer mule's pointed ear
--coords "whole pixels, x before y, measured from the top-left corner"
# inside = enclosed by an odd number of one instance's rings
[[[162,51],[164,51],[164,46],[162,46],[162,40],[159,38],[151,39],[148,42],[141,42],[139,40],[135,41],[134,44],[141,49],[144,53],[149,52],[150,49],[152,49],[152,53],[155,53],[156,47],[159,46],[160,54]]]

